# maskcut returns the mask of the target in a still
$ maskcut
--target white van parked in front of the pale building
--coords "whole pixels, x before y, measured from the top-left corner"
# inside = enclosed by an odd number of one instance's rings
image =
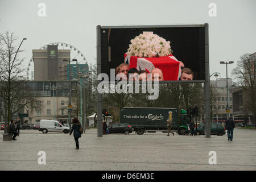
[[[49,132],[63,132],[63,133],[69,133],[69,127],[61,125],[59,121],[55,120],[44,120],[42,119],[40,121],[40,128],[39,131],[42,131],[43,133]]]

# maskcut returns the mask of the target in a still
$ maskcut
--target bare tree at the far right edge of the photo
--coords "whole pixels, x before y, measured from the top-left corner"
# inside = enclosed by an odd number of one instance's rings
[[[237,67],[233,69],[232,74],[236,78],[236,84],[243,90],[243,106],[253,114],[253,123],[255,125],[256,117],[256,58],[255,53],[250,55],[246,53],[241,56],[237,62]],[[256,127],[256,126],[255,126]]]

